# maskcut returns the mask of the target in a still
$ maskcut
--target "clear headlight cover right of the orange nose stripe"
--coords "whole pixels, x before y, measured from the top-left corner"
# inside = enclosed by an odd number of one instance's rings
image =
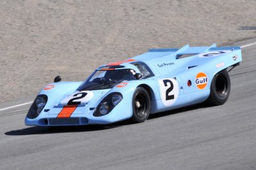
[[[93,116],[102,117],[107,115],[108,113],[115,108],[115,106],[122,101],[123,96],[119,92],[113,92],[108,94],[108,96],[104,97],[100,104],[95,109]]]

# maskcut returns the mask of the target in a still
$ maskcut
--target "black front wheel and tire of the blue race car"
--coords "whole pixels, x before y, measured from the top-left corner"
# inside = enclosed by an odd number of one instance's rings
[[[150,110],[151,103],[147,90],[143,87],[137,87],[132,96],[132,122],[145,122],[150,114]]]

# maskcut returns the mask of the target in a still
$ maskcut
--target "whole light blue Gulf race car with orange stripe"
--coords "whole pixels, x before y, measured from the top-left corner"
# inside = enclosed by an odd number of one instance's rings
[[[239,46],[151,49],[98,67],[85,81],[46,85],[25,118],[26,125],[144,122],[150,114],[192,104],[224,104],[228,71],[242,60]]]

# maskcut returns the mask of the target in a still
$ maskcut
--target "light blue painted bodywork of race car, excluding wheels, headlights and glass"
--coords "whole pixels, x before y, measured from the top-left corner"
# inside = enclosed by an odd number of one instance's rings
[[[186,57],[189,56],[189,57]],[[120,62],[124,68],[134,69],[140,73],[138,67],[131,64],[134,61],[144,62],[154,73],[150,78],[125,81],[125,85],[112,89],[92,90],[92,99],[81,106],[70,115],[70,118],[57,118],[63,110],[65,97],[72,96],[77,87],[83,81],[60,81],[45,86],[38,95],[44,94],[48,97],[44,109],[36,118],[25,118],[26,125],[58,126],[58,125],[89,125],[89,124],[111,124],[132,117],[132,96],[137,87],[144,87],[150,94],[151,111],[173,110],[192,104],[202,103],[209,97],[211,81],[214,75],[227,67],[236,66],[242,60],[241,48],[238,46],[216,47],[186,45],[180,49],[152,49],[129,60]],[[107,66],[107,65],[105,65]],[[204,75],[205,76],[202,76]],[[163,80],[171,83],[164,85]],[[201,83],[198,81],[201,81]],[[206,83],[205,83],[206,82]],[[173,86],[173,87],[171,87]],[[51,87],[53,87],[51,89]],[[120,92],[123,96],[107,115],[93,116],[95,108],[102,99],[112,92]],[[173,99],[166,100],[167,96]],[[68,121],[76,118],[75,121]]]

